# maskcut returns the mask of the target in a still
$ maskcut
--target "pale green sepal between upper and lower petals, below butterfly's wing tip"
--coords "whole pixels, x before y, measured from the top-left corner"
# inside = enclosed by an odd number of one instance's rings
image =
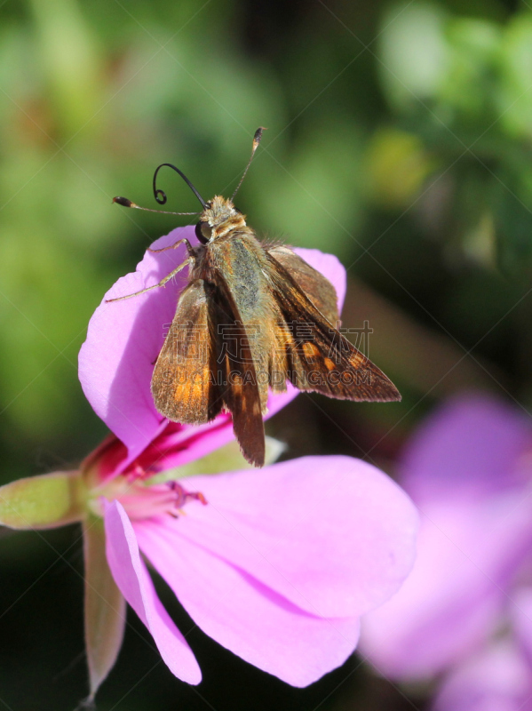
[[[266,456],[265,466],[272,464],[275,459],[281,456],[285,449],[285,444],[274,439],[274,437],[266,437]],[[186,476],[197,476],[205,474],[221,474],[222,472],[233,472],[242,469],[254,469],[252,464],[247,462],[242,457],[240,446],[236,440],[225,444],[218,450],[211,451],[201,459],[195,459],[181,467],[168,469],[161,474],[152,476],[147,479],[147,484],[164,483],[175,481],[176,479],[184,479]]]

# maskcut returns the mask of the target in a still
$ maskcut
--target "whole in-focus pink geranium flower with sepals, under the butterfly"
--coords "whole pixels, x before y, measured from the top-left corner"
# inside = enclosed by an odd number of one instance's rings
[[[183,230],[174,230],[155,247],[179,236]],[[106,298],[156,283],[179,260],[175,252],[147,253]],[[345,275],[337,260],[304,256],[342,299]],[[201,680],[145,560],[206,634],[296,686],[343,663],[358,641],[361,615],[393,595],[413,562],[415,508],[376,467],[348,457],[306,457],[213,476],[245,467],[230,418],[202,427],[160,418],[149,379],[182,284],[104,300],[91,319],[80,379],[115,434],[79,471],[0,490],[6,525],[83,523],[92,696],[122,642],[124,599],[171,672],[187,683]],[[270,414],[294,395],[291,389],[272,397]]]

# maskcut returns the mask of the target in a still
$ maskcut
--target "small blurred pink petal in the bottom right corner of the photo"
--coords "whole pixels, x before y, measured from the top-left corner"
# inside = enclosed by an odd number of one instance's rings
[[[503,640],[480,651],[444,681],[433,711],[530,711],[530,672],[520,652]]]

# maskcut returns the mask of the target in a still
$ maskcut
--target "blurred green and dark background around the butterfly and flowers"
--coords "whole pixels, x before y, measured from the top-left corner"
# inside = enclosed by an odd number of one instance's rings
[[[344,325],[402,403],[300,396],[268,424],[288,456],[345,452],[393,471],[441,398],[532,399],[532,5],[500,0],[4,0],[0,4],[1,482],[65,467],[105,434],[77,352],[103,293],[177,223],[157,164],[206,199],[233,191],[259,235],[335,252]],[[195,210],[171,174],[169,209]],[[183,218],[182,220],[186,220]],[[79,531],[2,532],[0,707],[86,693]],[[171,595],[163,598],[190,626]],[[101,709],[409,707],[353,657],[292,690],[190,641],[205,681],[158,661],[131,614]]]

